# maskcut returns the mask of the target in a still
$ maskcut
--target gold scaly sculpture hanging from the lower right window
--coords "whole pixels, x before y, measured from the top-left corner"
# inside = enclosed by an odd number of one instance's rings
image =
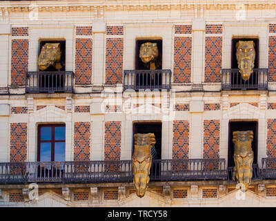
[[[233,143],[235,144],[233,180],[243,184],[247,191],[253,174],[253,131],[234,131]],[[242,188],[243,189],[243,188]]]

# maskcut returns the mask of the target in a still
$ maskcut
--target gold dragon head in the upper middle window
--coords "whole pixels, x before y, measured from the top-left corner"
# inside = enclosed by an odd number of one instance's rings
[[[156,59],[158,58],[159,52],[157,48],[157,43],[146,42],[141,44],[139,57],[141,61],[148,67],[150,70],[155,70],[159,65],[156,64]]]

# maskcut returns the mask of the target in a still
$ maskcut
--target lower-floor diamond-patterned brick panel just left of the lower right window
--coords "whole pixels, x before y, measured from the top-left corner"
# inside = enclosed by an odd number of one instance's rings
[[[204,120],[204,159],[219,158],[219,131],[218,119]]]

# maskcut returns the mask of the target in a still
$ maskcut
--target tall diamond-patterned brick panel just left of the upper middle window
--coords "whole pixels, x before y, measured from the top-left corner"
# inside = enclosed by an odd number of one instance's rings
[[[124,39],[106,39],[106,84],[121,84],[123,80]]]

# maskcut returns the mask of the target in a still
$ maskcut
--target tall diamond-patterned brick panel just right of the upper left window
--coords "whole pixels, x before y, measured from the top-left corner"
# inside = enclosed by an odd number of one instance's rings
[[[89,85],[92,79],[92,39],[76,39],[75,84]]]

